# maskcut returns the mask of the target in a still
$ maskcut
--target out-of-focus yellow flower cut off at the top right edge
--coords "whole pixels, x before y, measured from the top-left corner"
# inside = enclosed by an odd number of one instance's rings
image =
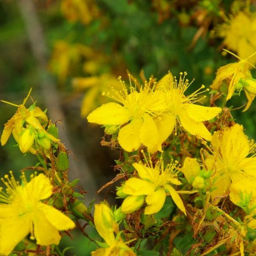
[[[238,53],[242,59],[246,59],[256,51],[256,15],[240,11],[230,17],[227,23],[221,24],[216,29],[220,37],[224,37],[224,45]],[[249,60],[256,63],[256,56]]]

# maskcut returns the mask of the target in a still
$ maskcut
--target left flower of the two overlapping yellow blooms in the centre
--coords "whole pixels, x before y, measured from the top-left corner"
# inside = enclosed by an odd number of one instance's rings
[[[109,95],[120,104],[110,102],[102,105],[87,116],[88,122],[99,125],[116,125],[120,127],[118,141],[126,151],[137,150],[141,144],[147,148],[161,150],[159,144],[159,131],[153,117],[163,111],[161,90],[152,91],[150,85],[145,84],[140,91],[130,86],[130,91],[113,89]]]

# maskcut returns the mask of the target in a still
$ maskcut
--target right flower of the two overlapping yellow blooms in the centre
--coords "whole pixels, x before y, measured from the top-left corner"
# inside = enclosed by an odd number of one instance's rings
[[[177,121],[190,134],[205,140],[211,140],[211,134],[204,126],[203,121],[213,119],[219,114],[221,109],[219,107],[204,107],[195,104],[195,102],[200,101],[198,94],[201,92],[198,91],[204,88],[204,86],[201,86],[199,90],[196,90],[191,95],[185,96],[184,93],[191,83],[187,79],[185,80],[186,72],[183,77],[182,75],[183,73],[180,73],[178,82],[169,73],[156,85],[157,88],[165,88],[163,93],[165,112],[156,120],[160,142],[162,143],[167,139],[171,132],[173,132],[174,127],[176,129]]]

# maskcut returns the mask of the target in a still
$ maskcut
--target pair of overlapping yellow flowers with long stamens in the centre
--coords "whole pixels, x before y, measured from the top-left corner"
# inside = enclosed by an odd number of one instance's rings
[[[88,122],[104,125],[113,133],[118,132],[118,141],[126,151],[135,151],[141,145],[151,152],[161,151],[161,144],[173,132],[177,124],[185,131],[201,139],[211,140],[211,134],[203,121],[213,119],[221,111],[219,107],[205,107],[195,104],[199,90],[185,96],[191,85],[181,73],[179,81],[171,73],[158,83],[146,83],[139,90],[130,85],[122,91],[115,91],[110,102],[102,105],[87,116]]]

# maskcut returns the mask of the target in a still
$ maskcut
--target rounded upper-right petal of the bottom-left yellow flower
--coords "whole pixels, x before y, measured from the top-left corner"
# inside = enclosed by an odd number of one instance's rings
[[[44,174],[39,174],[31,179],[31,181],[24,186],[24,189],[28,195],[33,196],[33,199],[40,201],[52,195],[53,186]]]

